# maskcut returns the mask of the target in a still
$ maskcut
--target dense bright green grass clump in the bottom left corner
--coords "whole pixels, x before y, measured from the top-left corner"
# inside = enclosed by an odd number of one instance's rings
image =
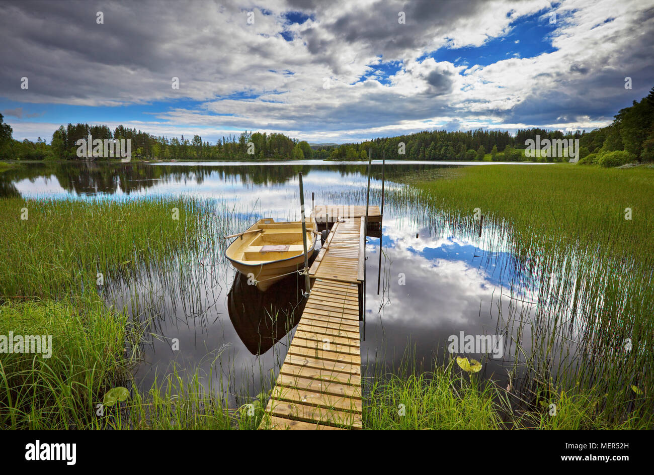
[[[99,300],[6,302],[0,335],[50,335],[49,355],[3,353],[0,429],[82,429],[94,402],[128,376],[126,317]]]

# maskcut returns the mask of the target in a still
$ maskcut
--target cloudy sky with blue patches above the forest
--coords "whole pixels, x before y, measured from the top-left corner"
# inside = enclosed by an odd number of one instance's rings
[[[591,130],[654,86],[653,39],[654,0],[1,1],[0,112],[47,142]]]

